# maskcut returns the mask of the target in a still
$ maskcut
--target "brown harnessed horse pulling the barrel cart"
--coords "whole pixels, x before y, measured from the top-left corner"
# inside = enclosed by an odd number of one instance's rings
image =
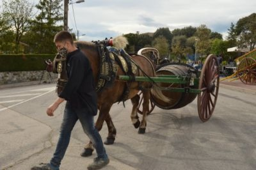
[[[97,50],[97,45],[90,42],[75,42],[75,45],[79,47],[79,49],[86,55],[91,63],[91,67],[93,69],[93,75],[95,79],[95,84],[98,82],[99,68],[100,68],[100,55]],[[150,77],[155,77],[155,70],[153,64],[146,58],[141,55],[132,55],[133,61]],[[66,60],[60,55],[56,55],[54,59],[54,65],[57,69],[60,69],[59,72],[59,81],[57,83],[57,93],[59,94],[63,89],[65,82],[67,81],[66,74]],[[62,67],[58,67],[58,64],[62,64]],[[60,65],[59,65],[60,66]],[[125,75],[125,73],[118,67],[117,76]],[[137,69],[136,76],[145,76],[141,70]],[[143,92],[143,117],[142,121],[139,121],[139,116],[137,113],[137,107],[139,104],[139,86],[142,88]],[[103,122],[106,121],[108,126],[108,137],[105,140],[105,144],[113,144],[116,137],[116,128],[114,127],[113,121],[110,117],[109,111],[112,105],[120,99],[125,89],[125,82],[115,80],[111,87],[105,88],[102,92],[98,93],[98,110],[99,116],[95,123],[95,127],[98,131],[101,130]],[[162,100],[169,100],[165,96],[163,96],[162,92],[157,88],[152,88],[151,82],[132,82],[129,86],[129,95],[127,99],[131,99],[132,101],[132,112],[131,112],[131,120],[135,128],[139,127],[139,134],[144,134],[146,130],[146,122],[147,122],[147,111],[149,109],[149,100],[150,100],[150,90],[152,93],[157,94],[157,96],[161,97]],[[89,151],[89,155],[94,150],[92,143],[86,145],[85,150]]]

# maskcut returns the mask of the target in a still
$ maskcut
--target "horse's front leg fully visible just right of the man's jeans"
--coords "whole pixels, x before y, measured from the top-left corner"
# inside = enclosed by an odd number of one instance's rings
[[[104,144],[113,144],[114,140],[116,139],[116,127],[114,126],[109,113],[108,113],[105,121],[108,126],[109,133],[108,133],[108,137],[105,140]]]

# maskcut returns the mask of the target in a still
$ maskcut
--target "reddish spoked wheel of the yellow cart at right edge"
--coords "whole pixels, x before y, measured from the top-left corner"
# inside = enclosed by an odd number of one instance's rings
[[[240,61],[237,66],[237,75],[244,84],[253,84],[256,82],[256,60],[247,57]]]

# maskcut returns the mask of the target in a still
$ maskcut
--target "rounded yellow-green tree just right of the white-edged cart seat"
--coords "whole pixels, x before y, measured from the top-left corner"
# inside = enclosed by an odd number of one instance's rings
[[[159,35],[152,42],[155,49],[159,51],[161,57],[167,56],[169,53],[169,43],[163,35]]]

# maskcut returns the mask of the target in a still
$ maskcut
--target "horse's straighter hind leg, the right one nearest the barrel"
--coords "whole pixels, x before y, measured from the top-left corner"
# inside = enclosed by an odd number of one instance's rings
[[[143,90],[143,109],[142,109],[142,121],[140,123],[140,128],[138,134],[144,134],[147,126],[147,112],[149,111],[149,99],[150,99],[150,91]]]

